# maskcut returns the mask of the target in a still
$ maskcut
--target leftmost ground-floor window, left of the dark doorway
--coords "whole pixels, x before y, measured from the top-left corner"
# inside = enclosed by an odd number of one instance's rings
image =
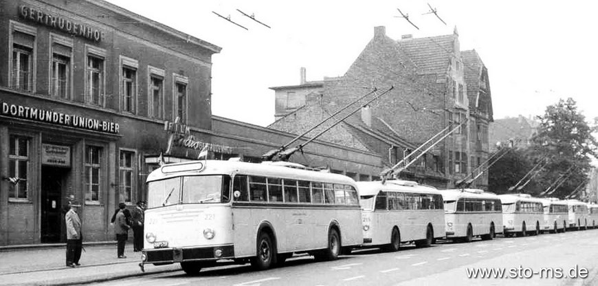
[[[8,150],[8,197],[27,199],[27,171],[29,170],[30,139],[10,136]]]

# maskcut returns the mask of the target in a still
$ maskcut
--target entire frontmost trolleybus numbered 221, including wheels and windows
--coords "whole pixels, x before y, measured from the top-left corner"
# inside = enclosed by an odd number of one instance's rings
[[[180,263],[196,274],[220,259],[264,270],[294,252],[333,260],[363,241],[355,181],[344,175],[206,160],[164,165],[147,188],[142,270]]]

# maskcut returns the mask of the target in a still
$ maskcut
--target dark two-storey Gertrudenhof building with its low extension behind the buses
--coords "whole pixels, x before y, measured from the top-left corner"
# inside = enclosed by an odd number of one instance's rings
[[[221,48],[111,3],[0,1],[0,21],[0,245],[64,241],[70,195],[85,241],[111,240],[113,211],[146,199],[159,158],[207,146],[212,159],[259,161],[296,136],[212,116]],[[322,141],[293,160],[380,168],[375,153]]]

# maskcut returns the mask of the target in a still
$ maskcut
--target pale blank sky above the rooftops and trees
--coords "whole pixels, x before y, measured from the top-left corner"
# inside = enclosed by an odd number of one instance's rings
[[[461,50],[475,49],[488,69],[495,119],[542,115],[569,97],[588,122],[598,117],[598,1],[109,2],[222,47],[212,57],[212,114],[242,122],[274,122],[269,87],[298,85],[300,67],[308,81],[342,76],[376,26],[385,26],[391,39],[452,34],[456,27]],[[422,15],[430,10],[427,3],[447,25]],[[397,8],[419,30],[397,17]]]

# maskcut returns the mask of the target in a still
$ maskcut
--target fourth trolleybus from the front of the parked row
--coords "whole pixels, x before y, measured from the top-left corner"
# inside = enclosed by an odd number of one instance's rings
[[[499,195],[502,202],[502,223],[505,236],[540,234],[540,221],[544,221],[542,201],[527,194]]]

